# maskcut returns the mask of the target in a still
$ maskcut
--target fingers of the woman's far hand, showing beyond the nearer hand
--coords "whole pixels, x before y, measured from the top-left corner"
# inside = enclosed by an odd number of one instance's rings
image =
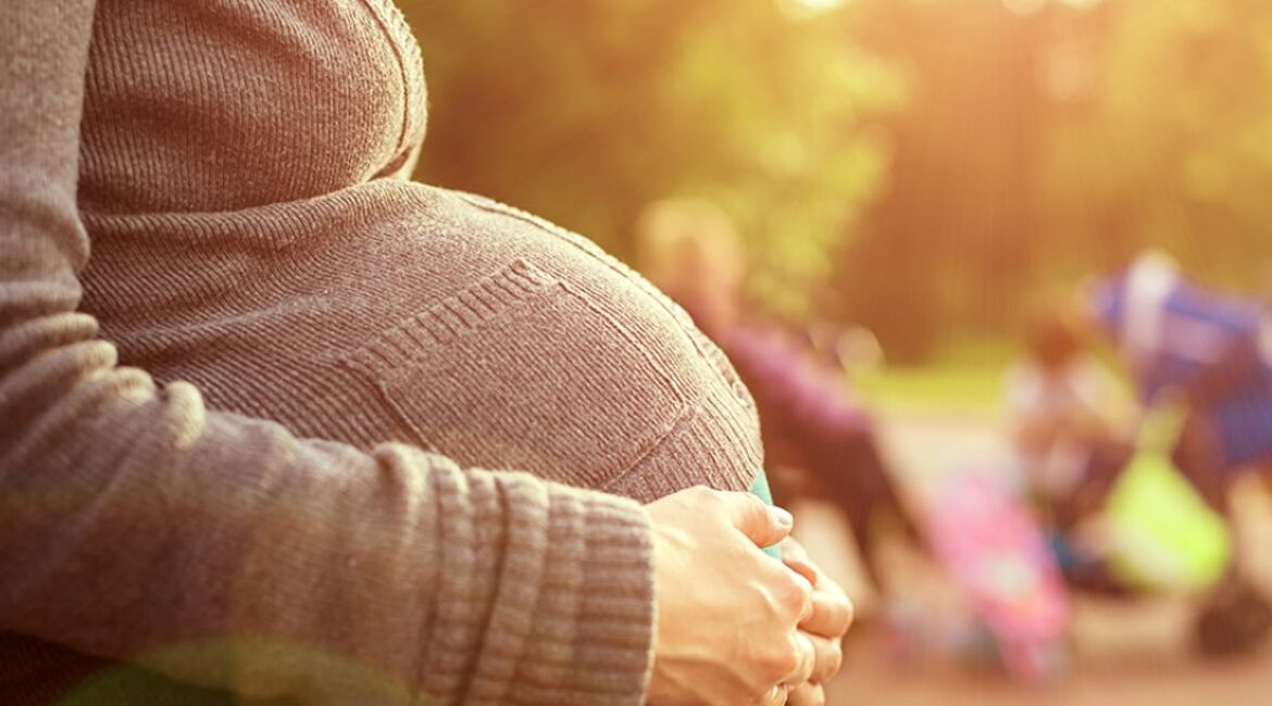
[[[782,561],[813,584],[813,609],[799,623],[814,648],[815,660],[808,681],[790,691],[791,706],[820,706],[826,703],[823,684],[840,672],[843,664],[843,635],[852,625],[852,602],[840,584],[834,583],[808,557],[808,552],[792,537],[782,541]]]

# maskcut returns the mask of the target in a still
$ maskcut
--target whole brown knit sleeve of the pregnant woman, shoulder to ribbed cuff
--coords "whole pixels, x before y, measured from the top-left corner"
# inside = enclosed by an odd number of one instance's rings
[[[78,312],[93,0],[0,15],[0,630],[305,702],[641,698],[647,519],[117,366]]]

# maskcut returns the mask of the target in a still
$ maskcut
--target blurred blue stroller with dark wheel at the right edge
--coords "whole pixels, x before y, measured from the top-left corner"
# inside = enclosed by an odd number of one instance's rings
[[[1085,296],[1088,314],[1117,344],[1140,401],[1183,405],[1174,465],[1235,535],[1233,485],[1272,470],[1267,302],[1192,282],[1159,251],[1140,255]],[[1241,653],[1269,631],[1272,606],[1234,560],[1202,611],[1198,644],[1211,654]]]

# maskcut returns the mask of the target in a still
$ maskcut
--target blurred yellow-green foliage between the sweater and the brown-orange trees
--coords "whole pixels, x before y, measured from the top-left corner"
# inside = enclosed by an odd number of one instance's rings
[[[901,76],[843,10],[792,0],[402,0],[424,47],[417,178],[542,213],[630,254],[649,202],[711,198],[738,221],[752,293],[808,311],[885,176],[875,116]]]

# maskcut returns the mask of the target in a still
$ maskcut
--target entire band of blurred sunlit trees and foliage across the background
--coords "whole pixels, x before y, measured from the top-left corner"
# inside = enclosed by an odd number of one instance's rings
[[[1144,246],[1272,279],[1266,0],[402,0],[418,176],[631,255],[706,197],[752,293],[875,329],[893,361],[1002,338]]]

